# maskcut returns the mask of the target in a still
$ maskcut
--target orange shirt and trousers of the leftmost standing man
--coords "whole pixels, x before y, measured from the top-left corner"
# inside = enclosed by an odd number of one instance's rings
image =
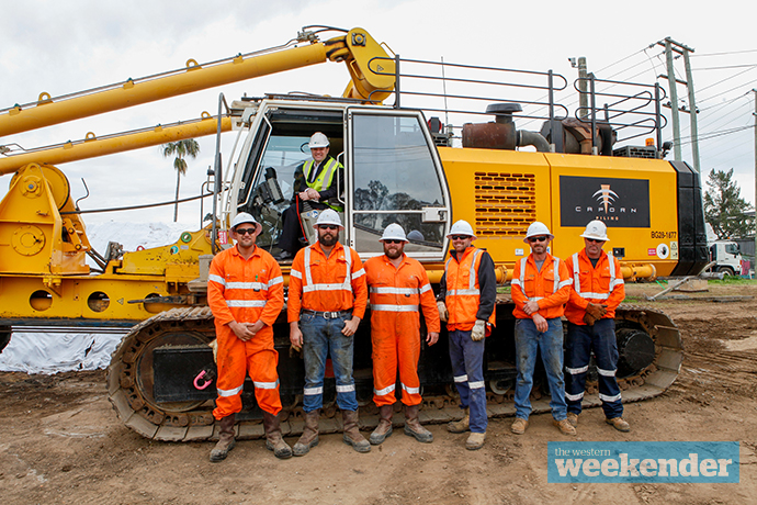
[[[273,323],[284,306],[284,279],[273,257],[256,247],[249,259],[236,246],[219,252],[211,263],[207,301],[215,317],[218,341],[218,399],[213,415],[222,419],[241,411],[245,374],[255,384],[255,397],[264,412],[278,415],[279,354],[273,349]],[[252,339],[241,341],[228,323],[265,326]]]

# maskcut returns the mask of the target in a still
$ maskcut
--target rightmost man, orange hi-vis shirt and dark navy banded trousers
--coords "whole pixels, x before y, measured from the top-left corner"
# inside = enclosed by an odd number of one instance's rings
[[[609,240],[605,223],[592,221],[586,225],[581,237],[586,247],[566,261],[568,271],[573,273],[570,299],[565,307],[568,319],[565,344],[567,418],[573,426],[578,426],[589,358],[594,350],[605,420],[619,431],[630,431],[631,427],[623,419],[623,404],[615,380],[618,343],[614,317],[615,308],[625,298],[625,283],[618,258],[602,250]]]

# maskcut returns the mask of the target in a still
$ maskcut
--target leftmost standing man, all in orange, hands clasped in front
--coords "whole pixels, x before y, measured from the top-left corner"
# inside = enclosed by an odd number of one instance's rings
[[[213,415],[219,420],[221,435],[211,451],[213,462],[226,459],[234,449],[235,414],[241,411],[247,373],[263,411],[265,447],[276,458],[292,456],[281,436],[279,354],[273,349],[272,327],[284,306],[284,280],[273,257],[255,245],[261,228],[250,214],[237,214],[231,223],[237,245],[213,258],[207,279],[218,344],[218,399]]]

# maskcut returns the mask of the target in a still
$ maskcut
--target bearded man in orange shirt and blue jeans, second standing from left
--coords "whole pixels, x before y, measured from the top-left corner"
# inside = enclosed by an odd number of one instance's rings
[[[305,360],[305,427],[293,452],[304,456],[318,445],[329,354],[337,379],[337,405],[344,423],[344,444],[358,452],[369,452],[371,445],[358,428],[352,378],[353,336],[368,304],[365,271],[358,252],[339,243],[343,226],[336,211],[323,211],[314,226],[318,242],[297,251],[290,272],[290,340],[295,349],[302,348]]]

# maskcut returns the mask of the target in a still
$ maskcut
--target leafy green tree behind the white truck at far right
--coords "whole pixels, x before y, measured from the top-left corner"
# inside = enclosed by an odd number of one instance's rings
[[[753,220],[744,215],[752,204],[741,195],[742,190],[728,171],[710,170],[704,194],[704,218],[718,238],[746,237],[754,231]]]

